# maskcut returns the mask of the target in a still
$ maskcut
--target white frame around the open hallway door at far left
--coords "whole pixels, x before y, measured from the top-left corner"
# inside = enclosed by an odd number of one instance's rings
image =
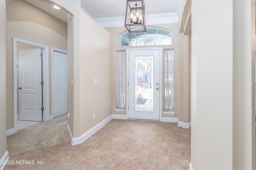
[[[14,111],[14,131],[11,134],[17,132],[17,43],[24,43],[43,49],[43,121],[49,121],[49,59],[48,59],[48,46],[41,45],[18,38],[12,39],[12,55],[13,55],[13,111]],[[9,133],[9,134],[10,134]]]

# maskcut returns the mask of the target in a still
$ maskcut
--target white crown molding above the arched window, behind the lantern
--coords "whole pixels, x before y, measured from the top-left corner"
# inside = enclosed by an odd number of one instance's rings
[[[105,18],[93,18],[93,19],[98,24],[100,24],[102,27],[108,28],[108,27],[124,26],[125,17],[118,16],[118,17],[105,17]],[[146,24],[147,25],[173,24],[173,23],[178,23],[178,22],[179,22],[179,17],[176,12],[146,15]]]

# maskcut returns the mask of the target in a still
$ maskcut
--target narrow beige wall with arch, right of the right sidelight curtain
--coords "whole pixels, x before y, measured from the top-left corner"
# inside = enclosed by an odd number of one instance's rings
[[[191,122],[191,0],[184,0],[179,19],[179,120]]]

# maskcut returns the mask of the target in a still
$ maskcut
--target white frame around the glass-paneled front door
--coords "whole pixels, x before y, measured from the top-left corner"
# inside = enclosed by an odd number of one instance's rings
[[[162,121],[162,47],[151,47],[151,48],[127,48],[126,49],[126,70],[127,70],[127,76],[126,76],[126,119],[129,119],[129,77],[130,77],[130,72],[129,72],[129,51],[138,51],[138,50],[160,50],[160,77],[159,77],[159,121]]]

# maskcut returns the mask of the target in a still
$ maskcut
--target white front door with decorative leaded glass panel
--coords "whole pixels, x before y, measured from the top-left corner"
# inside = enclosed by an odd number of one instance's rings
[[[129,49],[129,118],[159,120],[160,49]]]

